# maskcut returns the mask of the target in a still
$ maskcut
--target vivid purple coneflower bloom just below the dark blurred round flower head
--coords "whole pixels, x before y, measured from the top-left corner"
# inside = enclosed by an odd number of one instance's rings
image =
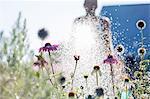
[[[57,49],[58,49],[58,45],[51,45],[50,43],[46,43],[44,47],[41,47],[39,49],[39,52],[41,52],[41,51],[48,51],[48,52],[50,52],[50,51],[55,51]]]

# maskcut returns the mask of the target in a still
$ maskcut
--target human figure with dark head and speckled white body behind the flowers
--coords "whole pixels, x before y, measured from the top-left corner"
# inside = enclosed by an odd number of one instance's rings
[[[95,15],[97,0],[85,0],[84,9],[86,14],[75,18],[73,22],[72,33],[68,43],[69,50],[67,50],[69,54],[67,54],[67,59],[63,59],[65,60],[64,64],[62,64],[64,66],[63,71],[70,75],[74,70],[72,65],[75,65],[72,56],[79,55],[80,60],[77,64],[73,86],[84,86],[86,94],[94,94],[95,88],[102,87],[106,96],[111,97],[114,94],[112,92],[110,66],[103,64],[106,53],[111,53],[113,50],[110,20],[107,17]],[[67,55],[64,55],[64,58]],[[95,75],[91,74],[95,65],[101,67],[102,75],[98,77],[99,84],[96,84]],[[89,75],[86,81],[87,84],[82,75],[84,73]]]

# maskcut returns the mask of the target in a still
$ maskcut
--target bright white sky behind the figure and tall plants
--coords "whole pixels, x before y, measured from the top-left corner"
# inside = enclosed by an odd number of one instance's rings
[[[39,43],[37,31],[43,27],[50,33],[46,42],[58,43],[68,38],[73,20],[85,14],[83,2],[84,0],[0,0],[0,31],[9,33],[21,11],[23,18],[27,19],[32,47]],[[101,5],[148,2],[150,0],[98,0],[96,13],[100,13]]]

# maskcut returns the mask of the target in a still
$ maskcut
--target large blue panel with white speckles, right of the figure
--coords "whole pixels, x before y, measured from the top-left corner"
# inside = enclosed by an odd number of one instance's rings
[[[141,33],[136,22],[144,20],[144,46],[147,49],[146,56],[150,55],[150,4],[104,6],[100,15],[110,18],[113,44],[123,44],[126,54],[137,55],[137,49],[141,47]]]

